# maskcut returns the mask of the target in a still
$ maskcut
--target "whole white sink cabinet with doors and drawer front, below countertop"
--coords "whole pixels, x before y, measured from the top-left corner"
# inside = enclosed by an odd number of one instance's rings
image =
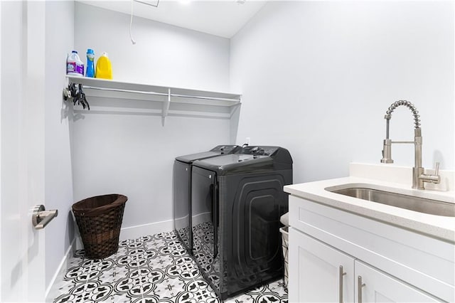
[[[452,243],[295,196],[289,223],[289,302],[454,302]]]

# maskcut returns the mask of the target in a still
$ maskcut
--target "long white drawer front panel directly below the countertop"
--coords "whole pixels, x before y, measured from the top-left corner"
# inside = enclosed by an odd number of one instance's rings
[[[292,227],[449,302],[455,245],[337,208],[289,197]]]

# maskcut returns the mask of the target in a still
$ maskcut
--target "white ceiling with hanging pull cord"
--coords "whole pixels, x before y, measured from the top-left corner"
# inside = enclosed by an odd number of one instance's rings
[[[103,9],[131,14],[131,1],[127,0],[76,0]],[[157,0],[141,0],[156,4]],[[241,1],[240,1],[241,2]],[[210,33],[215,36],[231,38],[247,23],[266,1],[246,0],[159,0],[158,7],[133,1],[134,16],[189,28],[194,31]]]

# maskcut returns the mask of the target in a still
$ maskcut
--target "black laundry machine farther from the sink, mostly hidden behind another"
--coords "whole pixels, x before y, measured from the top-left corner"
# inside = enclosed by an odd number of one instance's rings
[[[191,254],[191,168],[193,161],[208,159],[223,154],[231,154],[241,147],[237,145],[218,145],[210,151],[178,156],[173,165],[173,221],[174,231],[181,243]]]

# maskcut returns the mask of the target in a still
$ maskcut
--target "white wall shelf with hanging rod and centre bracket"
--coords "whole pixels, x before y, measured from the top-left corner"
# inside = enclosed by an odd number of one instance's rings
[[[161,115],[162,124],[167,116],[196,116],[230,119],[240,105],[242,95],[230,92],[192,90],[115,80],[66,76],[69,83],[82,84],[90,103],[90,112],[139,112],[144,115]],[[116,99],[116,102],[95,102],[100,98]],[[118,101],[120,100],[120,102]],[[139,100],[162,103],[159,107],[139,108],[121,100]],[[80,112],[80,110],[75,110]]]

